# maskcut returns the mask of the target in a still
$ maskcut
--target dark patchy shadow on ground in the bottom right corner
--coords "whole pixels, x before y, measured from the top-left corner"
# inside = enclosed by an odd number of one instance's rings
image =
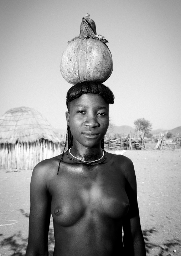
[[[181,246],[181,240],[179,239],[166,240],[166,242],[163,245],[157,245],[150,242],[149,236],[157,232],[157,230],[154,227],[149,230],[143,230],[142,232],[145,240],[147,254],[154,248],[158,248],[160,250],[158,256],[165,256],[169,255],[169,253],[172,253],[176,246]]]

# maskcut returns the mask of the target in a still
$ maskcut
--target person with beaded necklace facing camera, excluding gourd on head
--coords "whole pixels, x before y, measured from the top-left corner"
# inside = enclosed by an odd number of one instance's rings
[[[40,162],[32,173],[26,256],[48,255],[50,214],[54,256],[146,255],[133,163],[104,151],[113,103],[113,93],[101,83],[69,89],[68,150]]]

